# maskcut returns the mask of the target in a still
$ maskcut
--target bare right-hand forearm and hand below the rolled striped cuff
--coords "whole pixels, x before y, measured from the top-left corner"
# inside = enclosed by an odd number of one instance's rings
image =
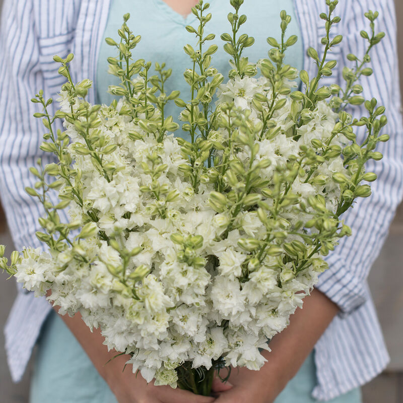
[[[267,359],[263,367],[258,372],[234,368],[230,376],[234,387],[221,393],[217,402],[273,402],[298,372],[338,311],[337,305],[314,290],[304,299],[303,309],[297,309],[290,317],[289,326],[271,340],[272,351],[262,353]],[[215,386],[216,392],[223,391],[219,384]]]

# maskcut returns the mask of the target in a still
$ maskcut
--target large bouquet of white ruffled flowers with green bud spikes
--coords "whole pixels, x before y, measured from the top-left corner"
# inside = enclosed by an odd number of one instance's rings
[[[37,237],[47,251],[27,247],[13,252],[9,264],[0,247],[0,267],[27,290],[44,295],[61,314],[80,312],[86,324],[100,328],[109,349],[131,355],[133,372],[156,385],[171,385],[209,395],[216,370],[246,366],[258,370],[267,340],[282,331],[290,315],[327,268],[323,259],[339,238],[350,234],[340,216],[356,197],[367,197],[376,175],[365,172],[386,124],[384,107],[364,100],[357,84],[370,75],[370,49],[377,13],[366,14],[370,33],[365,55],[349,55],[345,88],[319,87],[335,61],[328,50],[342,41],[331,37],[337,0],[326,0],[328,13],[323,57],[313,48],[317,76],[299,77],[283,63],[296,41],[286,38],[291,18],[281,13],[281,41],[268,38],[268,58],[251,64],[242,57],[254,42],[239,34],[246,16],[242,0],[231,0],[231,33],[221,35],[231,56],[229,79],[212,66],[216,45],[205,48],[211,19],[208,3],[192,10],[199,26],[196,49],[184,47],[192,68],[184,73],[191,99],[164,92],[171,70],[165,64],[133,61],[140,41],[124,23],[110,72],[121,85],[111,105],[86,101],[90,80],[73,83],[69,62],[59,73],[67,82],[60,110],[48,113],[51,99],[39,92],[47,129],[41,150],[56,162],[31,168],[37,177],[27,192],[43,205]],[[259,72],[259,76],[258,75]],[[216,96],[215,107],[212,99]],[[330,99],[329,101],[326,101]],[[183,108],[182,130],[190,141],[174,137],[178,125],[164,115],[167,102]],[[365,102],[368,116],[353,119],[346,105]],[[64,119],[64,131],[53,130]],[[355,126],[366,126],[357,143]],[[54,177],[55,180],[49,180]],[[48,193],[57,189],[59,203]],[[58,211],[69,207],[70,222]]]

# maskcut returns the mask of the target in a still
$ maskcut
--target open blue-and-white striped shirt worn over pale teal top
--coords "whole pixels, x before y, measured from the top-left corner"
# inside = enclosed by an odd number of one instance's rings
[[[220,0],[212,0],[220,1]],[[227,4],[227,0],[225,4]],[[248,0],[256,1],[257,0]],[[74,52],[74,80],[95,78],[97,57],[108,17],[110,0],[5,0],[0,32],[0,194],[15,246],[39,246],[35,237],[42,211],[24,188],[34,178],[28,168],[38,157],[49,162],[39,150],[42,127],[32,118],[37,111],[29,99],[43,89],[46,97],[57,97],[63,84],[52,56]],[[258,7],[258,5],[256,6]],[[324,0],[295,0],[296,15],[304,48],[320,47],[324,26],[318,15],[325,11]],[[334,318],[315,346],[317,386],[312,394],[328,400],[364,384],[385,368],[388,354],[367,286],[371,264],[386,238],[388,226],[403,193],[403,136],[400,118],[396,22],[393,0],[340,0],[343,45],[330,57],[339,61],[335,78],[348,53],[364,54],[360,30],[368,29],[364,12],[378,10],[377,29],[386,33],[371,52],[374,75],[364,77],[366,98],[376,97],[386,106],[390,141],[379,144],[380,162],[368,163],[378,175],[372,196],[360,199],[345,216],[353,235],[328,256],[330,269],[318,285],[337,303],[340,315]],[[337,34],[339,32],[333,32]],[[304,68],[310,76],[314,66],[306,57]],[[331,80],[334,80],[332,78]],[[93,102],[95,91],[89,94]],[[354,113],[364,113],[357,111]],[[362,138],[363,132],[358,137]],[[66,219],[66,217],[61,217]],[[20,290],[5,328],[6,350],[15,381],[21,379],[41,325],[50,310],[43,298]]]

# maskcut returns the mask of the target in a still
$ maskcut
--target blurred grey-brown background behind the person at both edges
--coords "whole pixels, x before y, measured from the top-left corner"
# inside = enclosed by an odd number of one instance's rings
[[[2,0],[0,0],[0,8]],[[395,0],[400,87],[403,94],[403,2]],[[403,133],[402,133],[403,135]],[[403,185],[403,184],[402,184]],[[13,245],[6,218],[0,205],[0,244]],[[397,211],[382,252],[372,267],[369,284],[373,293],[391,361],[387,369],[363,387],[364,403],[403,403],[403,205]],[[12,306],[16,287],[14,280],[0,277],[0,329],[3,329]],[[13,384],[7,368],[4,335],[0,332],[0,401],[2,403],[28,403],[31,366],[19,384]],[[47,403],[47,402],[44,402]],[[291,402],[290,402],[291,403]]]

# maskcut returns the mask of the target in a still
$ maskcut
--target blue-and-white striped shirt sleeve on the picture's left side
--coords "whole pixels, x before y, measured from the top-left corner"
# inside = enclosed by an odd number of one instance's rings
[[[0,63],[0,195],[14,244],[19,250],[28,245],[40,246],[35,232],[43,210],[37,199],[24,190],[35,183],[29,167],[34,166],[38,158],[43,165],[53,162],[52,155],[39,149],[46,129],[41,119],[33,117],[35,112],[41,111],[38,104],[30,101],[40,89],[44,90],[45,97],[54,96],[55,91],[49,87],[49,83],[52,84],[49,77],[45,80],[46,74],[52,73],[48,71],[51,58],[44,54],[46,46],[40,37],[44,24],[41,24],[38,10],[43,11],[42,6],[46,6],[42,3],[45,2],[6,1],[0,33],[3,59]],[[49,8],[46,9],[49,12]],[[57,52],[63,56],[67,51],[66,43],[50,51],[52,55]],[[57,76],[57,67],[54,73]],[[60,84],[58,79],[58,88]],[[54,105],[51,105],[50,111],[53,110]],[[51,195],[51,199],[55,202],[56,195]]]

